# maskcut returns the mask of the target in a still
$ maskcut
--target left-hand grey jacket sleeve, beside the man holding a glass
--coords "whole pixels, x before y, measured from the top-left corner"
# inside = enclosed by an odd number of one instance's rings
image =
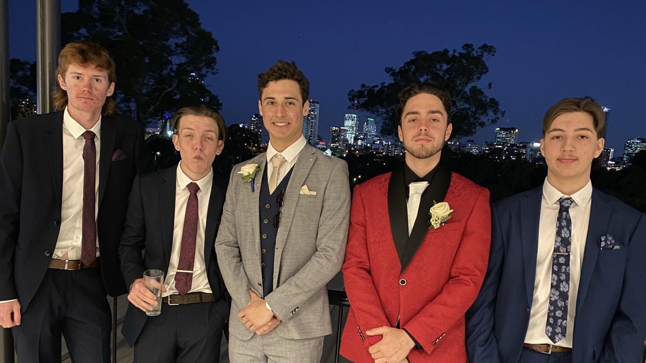
[[[215,253],[218,256],[218,266],[224,284],[237,306],[246,306],[251,297],[249,296],[249,278],[242,265],[242,254],[240,253],[240,242],[236,231],[235,210],[238,200],[236,198],[240,185],[240,178],[234,181],[236,168],[234,167],[229,177],[227,196],[222,208],[222,218],[218,227],[218,236],[215,239]]]

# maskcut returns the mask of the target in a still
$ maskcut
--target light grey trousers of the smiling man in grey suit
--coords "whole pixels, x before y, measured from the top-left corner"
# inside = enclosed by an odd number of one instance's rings
[[[229,335],[231,363],[318,363],[323,352],[323,338],[287,339],[270,331],[254,334],[249,340]]]

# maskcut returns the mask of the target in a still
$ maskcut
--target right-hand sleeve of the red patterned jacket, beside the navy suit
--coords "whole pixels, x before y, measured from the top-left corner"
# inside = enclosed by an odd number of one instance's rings
[[[406,329],[431,353],[435,344],[453,324],[463,318],[473,304],[485,277],[491,243],[489,191],[483,191],[474,203],[462,240],[455,253],[450,279],[442,292],[415,315]]]

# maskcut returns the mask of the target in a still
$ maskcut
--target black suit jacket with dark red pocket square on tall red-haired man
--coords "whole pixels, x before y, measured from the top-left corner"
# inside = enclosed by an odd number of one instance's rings
[[[96,227],[103,282],[112,296],[126,292],[117,249],[132,180],[147,169],[143,129],[126,116],[103,116]],[[9,123],[0,191],[0,301],[17,298],[25,311],[43,281],[61,225],[63,112]]]

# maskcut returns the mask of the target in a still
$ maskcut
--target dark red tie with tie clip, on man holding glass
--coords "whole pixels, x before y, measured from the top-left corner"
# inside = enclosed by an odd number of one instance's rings
[[[180,263],[177,265],[177,272],[175,273],[175,288],[182,295],[191,291],[191,284],[193,283],[195,240],[198,236],[198,191],[200,191],[200,186],[196,183],[189,183],[186,187],[191,194],[186,202]]]

